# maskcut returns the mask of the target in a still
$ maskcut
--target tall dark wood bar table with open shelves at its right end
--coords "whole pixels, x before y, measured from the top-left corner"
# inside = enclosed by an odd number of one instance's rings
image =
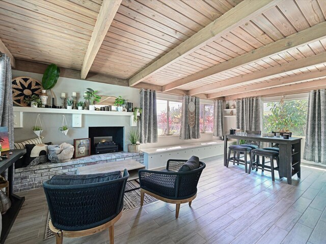
[[[280,177],[286,177],[288,184],[292,184],[292,176],[297,174],[300,178],[301,174],[301,139],[299,137],[290,137],[289,139],[284,139],[283,137],[266,137],[261,135],[248,134],[247,136],[238,135],[225,135],[224,136],[224,166],[226,166],[227,152],[228,152],[228,139],[237,140],[249,140],[249,141],[259,141],[268,143],[278,143],[280,147],[280,165],[279,174]],[[292,152],[292,146],[294,152]]]

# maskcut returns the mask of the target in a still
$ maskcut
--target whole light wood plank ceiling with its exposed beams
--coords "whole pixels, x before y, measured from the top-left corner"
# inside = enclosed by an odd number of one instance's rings
[[[0,51],[78,71],[87,63],[90,80],[208,99],[326,86],[325,0],[115,2],[110,21],[102,0],[1,0]]]

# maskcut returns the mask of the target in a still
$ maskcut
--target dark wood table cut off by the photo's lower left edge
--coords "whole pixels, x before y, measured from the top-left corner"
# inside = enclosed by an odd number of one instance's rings
[[[12,152],[11,155],[9,153]],[[7,155],[8,159],[0,161],[0,173],[8,169],[8,181],[9,181],[9,199],[11,201],[11,207],[9,210],[2,216],[2,232],[0,243],[5,243],[5,240],[9,234],[9,231],[12,225],[15,222],[15,219],[18,215],[18,212],[25,200],[24,197],[19,197],[13,194],[13,185],[14,185],[14,163],[25,153],[24,149],[19,150],[10,150],[3,151],[2,156]]]

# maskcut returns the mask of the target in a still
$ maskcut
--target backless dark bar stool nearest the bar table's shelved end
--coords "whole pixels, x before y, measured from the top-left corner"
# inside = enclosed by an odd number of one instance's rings
[[[250,165],[249,165],[249,174],[251,172],[251,169],[256,168],[256,171],[258,169],[261,169],[262,172],[264,172],[264,170],[267,170],[269,172],[271,172],[271,180],[275,181],[275,177],[274,177],[274,170],[279,170],[279,167],[274,167],[274,159],[276,159],[276,163],[277,165],[279,165],[279,153],[277,151],[274,150],[266,150],[266,149],[253,149],[250,152]],[[259,156],[262,157],[261,160],[261,164],[259,163],[258,160],[254,161],[254,156],[256,156],[257,158],[259,158]],[[269,158],[270,159],[270,166],[265,165],[265,158]]]

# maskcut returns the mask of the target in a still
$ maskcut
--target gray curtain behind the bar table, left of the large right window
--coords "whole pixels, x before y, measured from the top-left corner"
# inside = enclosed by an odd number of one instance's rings
[[[236,128],[260,131],[260,98],[243,98],[236,101]]]

